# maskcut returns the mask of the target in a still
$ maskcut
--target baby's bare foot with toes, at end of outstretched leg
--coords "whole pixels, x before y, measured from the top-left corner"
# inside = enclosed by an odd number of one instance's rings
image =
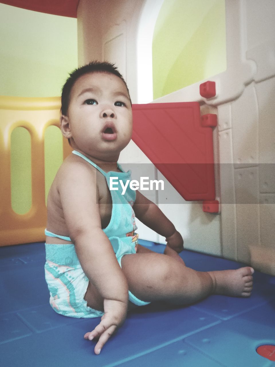
[[[236,270],[208,272],[213,280],[213,293],[231,297],[249,297],[253,286],[254,269],[246,266]]]

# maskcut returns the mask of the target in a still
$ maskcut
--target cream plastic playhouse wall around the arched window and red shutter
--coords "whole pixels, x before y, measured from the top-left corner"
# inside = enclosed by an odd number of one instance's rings
[[[142,56],[140,27],[146,26],[144,9],[159,8],[160,1],[120,1],[118,6],[117,2],[106,0],[104,12],[100,1],[98,6],[96,1],[92,3],[95,23],[89,15],[91,0],[80,0],[78,7],[81,47],[86,50],[80,63],[107,55],[122,67],[133,102],[150,102],[138,98],[146,86],[140,78],[140,60],[144,58],[142,64],[145,68],[147,65],[147,81],[151,68],[144,61],[150,62],[151,56],[144,53]],[[202,80],[154,101],[198,101],[202,114],[218,114],[219,125],[213,134],[215,162],[219,163],[216,182],[221,212],[205,214],[199,203],[187,204],[175,190],[171,196],[178,196],[179,204],[160,207],[187,238],[186,247],[243,261],[274,275],[275,3],[273,0],[226,0],[225,6],[227,70],[211,78],[216,82],[216,97],[207,100],[200,96]],[[150,14],[147,17],[152,22]],[[150,27],[147,38],[149,42]],[[89,44],[95,45],[95,39],[97,46],[90,47]],[[145,40],[144,44],[148,52]],[[122,152],[121,161],[132,159],[147,162],[131,142],[126,152]],[[156,176],[160,178],[158,172]],[[172,202],[172,197],[168,199]],[[161,197],[158,200],[163,203]],[[150,232],[141,238],[158,240]]]

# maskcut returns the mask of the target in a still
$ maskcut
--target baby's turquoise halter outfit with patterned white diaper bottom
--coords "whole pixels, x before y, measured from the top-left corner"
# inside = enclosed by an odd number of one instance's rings
[[[101,172],[106,178],[109,189],[110,177],[118,177],[118,180],[123,181],[124,186],[127,179],[131,181],[131,171],[124,172],[119,164],[118,168],[121,172],[110,171],[106,173],[83,154],[76,150],[73,151],[73,154],[82,157]],[[136,192],[131,190],[128,185],[125,194],[122,195],[122,186],[118,184],[114,187],[118,190],[110,190],[113,204],[111,219],[103,232],[109,237],[117,261],[121,266],[122,256],[136,253],[138,235],[135,233],[137,226],[132,208]],[[45,229],[45,235],[71,241],[69,237],[56,235],[47,229]],[[50,292],[49,303],[52,308],[57,313],[70,317],[102,316],[103,312],[90,308],[84,300],[89,279],[81,268],[74,244],[45,243],[45,248],[45,278]],[[141,301],[130,291],[129,301],[137,306],[150,303]]]

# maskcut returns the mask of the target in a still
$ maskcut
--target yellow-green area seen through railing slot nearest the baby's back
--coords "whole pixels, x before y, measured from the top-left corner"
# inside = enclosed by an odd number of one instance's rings
[[[49,126],[45,131],[44,152],[45,152],[45,204],[52,181],[56,172],[63,162],[62,133],[56,126]],[[67,143],[69,144],[69,143]]]

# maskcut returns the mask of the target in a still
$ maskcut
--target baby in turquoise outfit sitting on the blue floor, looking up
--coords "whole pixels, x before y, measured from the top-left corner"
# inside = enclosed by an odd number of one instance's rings
[[[132,135],[132,103],[114,65],[74,70],[62,90],[60,127],[74,149],[49,190],[45,276],[50,304],[61,315],[101,317],[85,339],[99,354],[127,310],[153,301],[187,305],[210,294],[249,297],[254,270],[198,272],[178,255],[183,239],[139,191],[110,190],[131,179],[117,163]],[[166,237],[164,254],[138,244],[135,217]]]

